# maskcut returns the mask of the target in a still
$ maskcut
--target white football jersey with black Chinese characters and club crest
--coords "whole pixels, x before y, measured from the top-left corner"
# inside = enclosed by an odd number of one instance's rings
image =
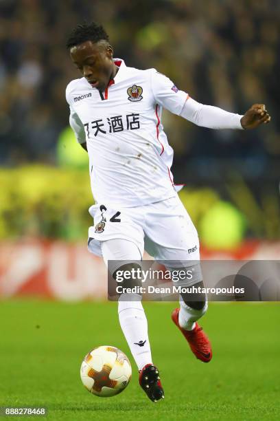
[[[188,96],[156,69],[114,61],[119,71],[103,93],[86,78],[72,80],[66,89],[71,126],[89,153],[93,197],[98,204],[122,207],[173,197],[173,149],[161,111],[180,114]]]

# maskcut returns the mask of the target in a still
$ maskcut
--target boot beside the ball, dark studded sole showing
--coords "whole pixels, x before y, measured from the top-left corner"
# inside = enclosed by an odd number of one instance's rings
[[[159,370],[152,364],[147,364],[139,371],[139,385],[147,393],[152,402],[164,399],[164,391],[159,378]]]

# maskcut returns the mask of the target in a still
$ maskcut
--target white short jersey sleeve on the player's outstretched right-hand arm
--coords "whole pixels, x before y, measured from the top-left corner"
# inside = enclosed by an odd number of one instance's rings
[[[188,98],[188,94],[180,91],[170,78],[151,69],[152,93],[157,104],[173,114],[179,115]]]

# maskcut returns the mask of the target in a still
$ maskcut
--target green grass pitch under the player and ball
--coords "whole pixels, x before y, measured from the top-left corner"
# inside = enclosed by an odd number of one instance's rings
[[[173,325],[174,303],[147,303],[165,389],[156,404],[138,385],[116,303],[0,305],[0,406],[47,407],[39,418],[47,420],[280,420],[280,303],[211,303],[201,321],[213,345],[209,364]],[[82,358],[98,345],[119,347],[132,363],[130,385],[113,398],[91,395],[80,381]]]

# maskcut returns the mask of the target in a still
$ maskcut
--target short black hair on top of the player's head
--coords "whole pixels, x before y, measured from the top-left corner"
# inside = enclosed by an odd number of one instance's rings
[[[69,49],[86,41],[93,41],[93,43],[97,43],[98,41],[109,42],[109,37],[103,26],[99,23],[82,23],[73,29],[66,46]]]

